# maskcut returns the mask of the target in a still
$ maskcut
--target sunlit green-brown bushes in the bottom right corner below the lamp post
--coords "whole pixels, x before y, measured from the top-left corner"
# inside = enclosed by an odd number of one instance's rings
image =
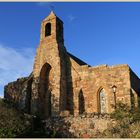
[[[111,114],[114,124],[109,125],[103,138],[140,138],[140,109],[119,102]]]

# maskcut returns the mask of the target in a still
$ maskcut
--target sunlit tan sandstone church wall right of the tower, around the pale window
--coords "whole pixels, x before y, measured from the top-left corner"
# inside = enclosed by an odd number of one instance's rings
[[[71,63],[75,115],[79,114],[81,107],[80,94],[83,96],[82,110],[84,112],[100,112],[99,92],[101,89],[104,89],[107,94],[107,112],[111,112],[113,110],[112,105],[115,104],[113,85],[117,87],[116,101],[131,104],[128,65],[89,67],[87,65],[79,66],[74,61]]]

